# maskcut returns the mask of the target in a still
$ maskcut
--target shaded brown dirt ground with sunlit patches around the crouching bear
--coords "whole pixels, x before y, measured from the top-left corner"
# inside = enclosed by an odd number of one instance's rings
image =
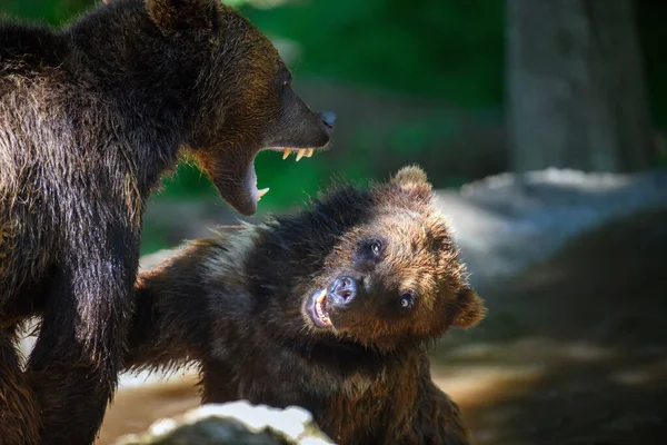
[[[432,354],[474,444],[667,443],[666,273],[667,211],[654,211],[480,286],[487,319]],[[121,390],[98,443],[196,406],[193,383]]]

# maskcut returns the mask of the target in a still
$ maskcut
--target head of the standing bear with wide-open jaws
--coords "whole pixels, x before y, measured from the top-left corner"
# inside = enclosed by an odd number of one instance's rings
[[[328,146],[334,112],[313,112],[295,93],[273,44],[232,8],[220,0],[104,2],[113,26],[139,29],[140,41],[125,44],[141,46],[138,53],[159,65],[146,76],[186,91],[175,100],[187,103],[168,105],[185,107],[181,146],[239,212],[255,214],[268,191],[257,188],[259,151],[293,150],[299,159]]]

